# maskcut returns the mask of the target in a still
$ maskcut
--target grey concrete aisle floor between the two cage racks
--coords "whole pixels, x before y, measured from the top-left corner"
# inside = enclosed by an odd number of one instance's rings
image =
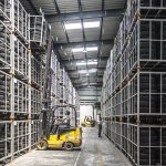
[[[131,166],[131,164],[106,137],[97,137],[97,128],[84,128],[81,149],[73,152],[34,149],[8,166]]]

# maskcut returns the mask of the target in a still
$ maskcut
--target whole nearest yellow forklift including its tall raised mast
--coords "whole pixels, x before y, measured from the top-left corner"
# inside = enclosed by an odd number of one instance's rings
[[[64,148],[72,151],[82,145],[82,128],[76,125],[76,111],[73,105],[63,104],[52,106],[51,102],[51,54],[53,39],[50,34],[43,84],[43,108],[40,115],[40,139],[37,143],[38,149]],[[64,111],[69,108],[69,111]],[[74,111],[75,124],[71,125],[70,111]]]

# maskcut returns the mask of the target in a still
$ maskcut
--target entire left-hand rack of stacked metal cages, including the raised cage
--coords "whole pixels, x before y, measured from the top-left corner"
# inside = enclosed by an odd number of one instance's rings
[[[1,0],[0,15],[0,165],[6,165],[33,148],[39,138],[50,27],[43,14],[27,13],[19,0]],[[51,72],[55,105],[60,63],[53,51]]]

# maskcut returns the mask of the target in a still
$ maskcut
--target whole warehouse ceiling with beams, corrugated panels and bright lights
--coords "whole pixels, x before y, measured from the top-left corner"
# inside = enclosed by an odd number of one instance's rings
[[[77,89],[101,87],[126,0],[21,0],[51,23],[56,53]]]

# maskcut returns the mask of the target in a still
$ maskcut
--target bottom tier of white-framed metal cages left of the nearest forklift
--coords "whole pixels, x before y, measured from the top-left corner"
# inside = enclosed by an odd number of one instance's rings
[[[38,120],[0,122],[0,164],[30,151],[38,141]]]

